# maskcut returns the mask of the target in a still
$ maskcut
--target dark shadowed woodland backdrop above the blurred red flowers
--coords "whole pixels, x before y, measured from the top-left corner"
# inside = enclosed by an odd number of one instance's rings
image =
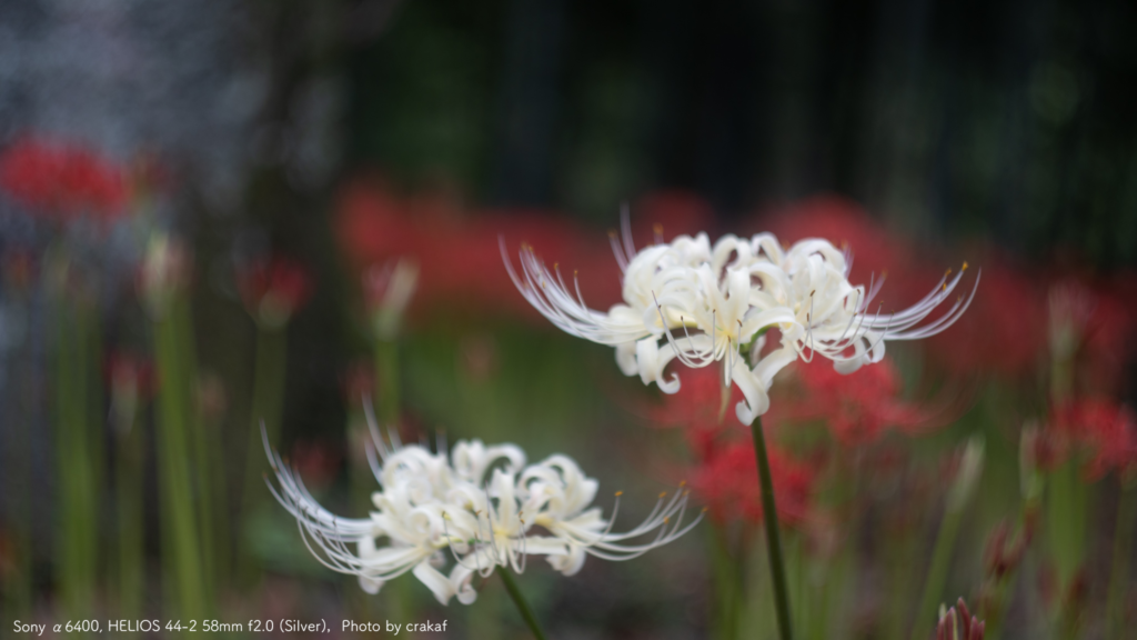
[[[819,191],[915,235],[1137,259],[1126,2],[401,2],[345,48],[347,164],[606,225]]]

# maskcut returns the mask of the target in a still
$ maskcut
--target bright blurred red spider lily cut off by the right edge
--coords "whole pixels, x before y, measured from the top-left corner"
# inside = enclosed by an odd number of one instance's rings
[[[1137,463],[1137,416],[1132,409],[1111,400],[1090,399],[1070,402],[1053,410],[1046,443],[1048,460],[1061,463],[1071,449],[1088,456],[1087,479],[1101,478],[1111,470],[1126,470]]]

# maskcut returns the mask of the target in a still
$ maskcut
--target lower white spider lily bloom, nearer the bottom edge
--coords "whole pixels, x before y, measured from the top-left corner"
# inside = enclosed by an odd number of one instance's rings
[[[368,593],[410,572],[439,602],[457,597],[468,605],[478,597],[475,574],[488,577],[497,567],[521,573],[526,558],[537,555],[573,575],[587,555],[628,560],[683,535],[703,517],[683,524],[688,492],[681,490],[661,494],[639,526],[614,533],[621,492],[605,518],[591,507],[597,482],[566,456],[526,465],[513,444],[485,446],[474,440],[459,441],[447,457],[398,441],[387,446],[374,427],[372,435],[368,460],[381,489],[372,494],[375,510],[364,519],[340,518],[321,507],[265,440],[280,484],[269,489],[296,516],[308,550],[329,568],[357,575]]]

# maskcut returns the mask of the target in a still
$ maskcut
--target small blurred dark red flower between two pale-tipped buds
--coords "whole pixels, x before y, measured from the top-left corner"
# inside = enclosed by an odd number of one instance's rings
[[[308,271],[297,261],[273,256],[236,272],[244,307],[257,322],[283,326],[312,295]]]

